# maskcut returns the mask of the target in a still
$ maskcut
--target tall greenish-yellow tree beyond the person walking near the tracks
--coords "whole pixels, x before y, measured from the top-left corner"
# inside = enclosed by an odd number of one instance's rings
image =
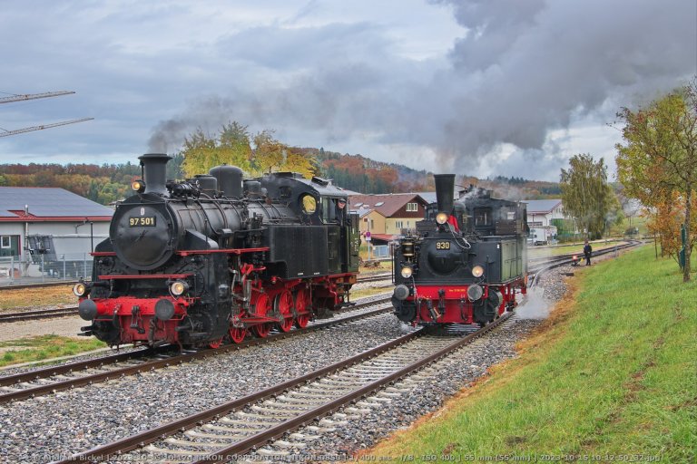
[[[588,237],[601,237],[608,213],[616,203],[607,183],[604,160],[595,162],[590,154],[578,154],[569,165],[568,170],[562,169],[559,183],[564,209]]]

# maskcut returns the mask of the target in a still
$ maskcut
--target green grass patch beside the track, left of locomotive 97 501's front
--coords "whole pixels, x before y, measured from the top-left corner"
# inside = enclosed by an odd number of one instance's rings
[[[11,350],[7,348],[11,347]],[[75,340],[59,335],[41,335],[0,342],[0,367],[21,362],[44,361],[106,347],[95,338]]]

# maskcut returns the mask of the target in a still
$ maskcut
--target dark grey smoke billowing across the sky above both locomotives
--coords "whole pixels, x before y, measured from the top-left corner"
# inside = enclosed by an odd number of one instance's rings
[[[319,142],[370,134],[381,144],[430,147],[442,169],[468,172],[495,166],[496,147],[509,144],[515,153],[498,172],[524,169],[535,179],[545,169],[531,167],[545,166],[550,179],[574,154],[562,153],[550,131],[612,121],[620,105],[695,73],[691,1],[434,3],[452,7],[466,28],[449,66],[396,56],[375,24],[250,29],[221,41],[222,54],[294,73],[194,102],[173,121],[237,120]]]

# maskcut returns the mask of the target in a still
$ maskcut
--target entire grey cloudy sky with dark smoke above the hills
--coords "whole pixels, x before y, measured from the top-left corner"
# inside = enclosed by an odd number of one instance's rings
[[[622,106],[697,73],[694,0],[3,0],[0,164],[135,161],[196,127],[480,178],[614,172]]]

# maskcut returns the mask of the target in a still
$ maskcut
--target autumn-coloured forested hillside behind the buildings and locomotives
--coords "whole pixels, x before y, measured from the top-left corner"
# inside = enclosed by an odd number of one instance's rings
[[[399,193],[433,191],[433,177],[426,170],[383,163],[361,155],[340,154],[313,148],[293,148],[295,153],[311,158],[315,175],[332,179],[334,185],[360,193]],[[168,164],[168,179],[182,179],[182,154]],[[125,164],[3,164],[0,187],[60,187],[93,201],[109,204],[130,193],[130,183],[141,176],[136,163]],[[500,198],[558,198],[554,182],[520,178],[476,179],[458,175],[456,185],[475,184],[493,189]]]

